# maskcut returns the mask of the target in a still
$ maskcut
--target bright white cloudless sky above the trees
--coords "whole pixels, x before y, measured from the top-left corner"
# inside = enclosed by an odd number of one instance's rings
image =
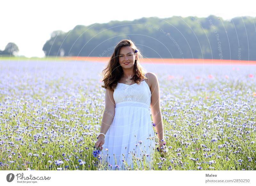
[[[44,43],[54,30],[65,32],[76,25],[107,23],[111,20],[134,20],[142,17],[172,16],[256,17],[252,1],[225,0],[5,0],[0,4],[0,49],[16,43],[19,55],[44,57]]]

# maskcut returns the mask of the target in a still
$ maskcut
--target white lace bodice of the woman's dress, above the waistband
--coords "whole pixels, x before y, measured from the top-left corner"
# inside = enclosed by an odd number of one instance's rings
[[[140,84],[127,85],[124,83],[117,83],[113,94],[115,103],[134,101],[150,105],[151,91],[146,81],[141,81]]]

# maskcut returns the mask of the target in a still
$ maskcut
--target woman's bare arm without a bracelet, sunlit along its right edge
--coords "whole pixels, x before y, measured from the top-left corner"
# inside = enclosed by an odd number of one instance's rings
[[[163,146],[163,143],[161,142],[162,139],[164,139],[164,125],[162,120],[162,113],[160,109],[160,89],[158,80],[156,77],[156,74],[154,73],[147,73],[148,74],[148,82],[150,86],[151,91],[151,114],[153,118],[153,123],[155,123],[157,137],[158,137],[158,144],[160,147]]]

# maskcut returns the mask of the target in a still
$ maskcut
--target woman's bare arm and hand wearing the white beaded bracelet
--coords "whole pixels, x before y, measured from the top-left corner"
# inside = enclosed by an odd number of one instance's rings
[[[100,133],[106,134],[108,128],[110,127],[114,116],[115,116],[115,101],[113,97],[114,91],[106,89],[105,93],[105,110],[102,116],[102,122],[100,126]],[[101,134],[95,143],[95,147],[100,147],[102,150],[102,145],[105,143],[104,136]]]

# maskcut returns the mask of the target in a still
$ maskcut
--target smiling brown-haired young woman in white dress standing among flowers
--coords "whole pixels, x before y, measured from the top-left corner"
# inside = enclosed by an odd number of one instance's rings
[[[138,166],[145,159],[151,168],[155,135],[149,107],[159,147],[163,145],[158,80],[154,73],[143,71],[140,58],[134,43],[122,40],[103,70],[105,111],[95,147],[100,151],[104,148],[101,161],[107,163],[108,169],[127,170],[127,165],[133,168],[133,157],[138,158]]]

